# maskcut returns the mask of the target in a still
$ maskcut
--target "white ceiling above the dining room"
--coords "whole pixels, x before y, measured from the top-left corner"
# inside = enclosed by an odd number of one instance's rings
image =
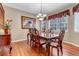
[[[32,13],[33,15],[37,15],[41,9],[41,3],[4,3],[4,5]],[[72,3],[43,3],[42,12],[50,14],[51,12],[67,8],[71,5]]]

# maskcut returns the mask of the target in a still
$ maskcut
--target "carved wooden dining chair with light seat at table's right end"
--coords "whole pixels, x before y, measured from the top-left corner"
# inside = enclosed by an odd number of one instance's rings
[[[60,51],[61,51],[61,53],[63,55],[62,43],[63,43],[64,34],[65,34],[65,31],[64,30],[60,31],[59,36],[54,37],[52,39],[51,44],[50,44],[50,46],[52,48],[56,48],[57,49],[57,55],[58,56],[59,56],[59,49],[60,49]]]

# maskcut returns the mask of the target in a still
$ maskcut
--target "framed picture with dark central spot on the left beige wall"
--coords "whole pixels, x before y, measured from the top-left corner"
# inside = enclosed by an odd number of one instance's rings
[[[21,26],[22,26],[22,29],[34,28],[35,18],[21,16]]]

